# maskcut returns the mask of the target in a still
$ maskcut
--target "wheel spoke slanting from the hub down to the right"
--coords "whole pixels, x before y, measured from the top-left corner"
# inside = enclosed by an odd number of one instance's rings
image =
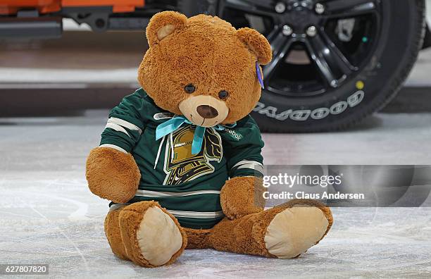
[[[345,79],[353,70],[354,66],[341,51],[330,42],[327,36],[320,30],[316,37],[305,41],[311,60],[316,64],[320,75],[330,87],[338,87],[339,80]]]

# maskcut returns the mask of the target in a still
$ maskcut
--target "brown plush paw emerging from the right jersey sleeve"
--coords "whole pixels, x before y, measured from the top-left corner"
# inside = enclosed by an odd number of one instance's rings
[[[263,211],[262,179],[246,176],[227,180],[220,192],[220,204],[230,220]]]

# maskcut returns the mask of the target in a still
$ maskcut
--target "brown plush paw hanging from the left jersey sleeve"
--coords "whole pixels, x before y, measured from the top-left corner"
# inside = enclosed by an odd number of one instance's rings
[[[131,154],[98,147],[87,158],[86,178],[93,194],[115,203],[125,203],[135,196],[141,173]]]

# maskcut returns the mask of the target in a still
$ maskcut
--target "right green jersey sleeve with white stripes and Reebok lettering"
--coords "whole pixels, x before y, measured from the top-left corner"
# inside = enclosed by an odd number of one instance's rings
[[[225,144],[227,169],[230,178],[239,176],[263,177],[263,141],[261,131],[251,116],[240,120],[235,128],[226,128],[230,140]]]

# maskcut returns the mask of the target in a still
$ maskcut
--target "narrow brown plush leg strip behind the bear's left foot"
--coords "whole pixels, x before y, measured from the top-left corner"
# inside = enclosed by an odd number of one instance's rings
[[[109,246],[111,246],[113,254],[120,259],[128,260],[123,240],[121,239],[120,223],[118,221],[120,211],[123,208],[124,206],[109,211],[108,215],[106,215],[104,226],[106,239],[108,240]]]

